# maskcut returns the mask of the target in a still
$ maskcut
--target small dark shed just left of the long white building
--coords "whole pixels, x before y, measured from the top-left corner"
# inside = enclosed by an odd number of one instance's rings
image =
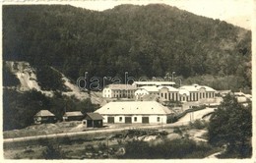
[[[103,117],[98,113],[87,113],[85,120],[87,121],[87,127],[102,128]]]

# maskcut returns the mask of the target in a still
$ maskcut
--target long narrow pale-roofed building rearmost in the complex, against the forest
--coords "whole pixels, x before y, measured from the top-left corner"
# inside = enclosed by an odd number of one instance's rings
[[[173,86],[175,82],[173,81],[134,81],[133,85],[136,87],[141,86]]]

